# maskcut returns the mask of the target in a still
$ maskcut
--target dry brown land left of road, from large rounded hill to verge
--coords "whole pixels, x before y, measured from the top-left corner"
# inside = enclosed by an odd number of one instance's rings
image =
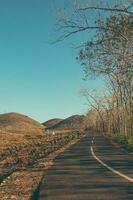
[[[45,132],[27,116],[0,116],[0,199],[29,199],[42,179],[49,154],[76,141],[77,131]]]

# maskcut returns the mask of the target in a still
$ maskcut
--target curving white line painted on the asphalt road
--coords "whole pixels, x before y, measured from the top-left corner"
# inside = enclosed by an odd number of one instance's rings
[[[93,140],[92,140],[93,141]],[[94,141],[93,141],[94,142]],[[113,173],[117,174],[118,176],[130,181],[133,183],[133,178],[130,178],[129,176],[126,176],[125,174],[113,169],[112,167],[108,166],[106,163],[104,163],[101,159],[99,159],[95,153],[94,153],[94,150],[93,150],[93,147],[91,146],[91,154],[92,156],[101,164],[103,165],[104,167],[106,167],[108,170],[112,171]]]

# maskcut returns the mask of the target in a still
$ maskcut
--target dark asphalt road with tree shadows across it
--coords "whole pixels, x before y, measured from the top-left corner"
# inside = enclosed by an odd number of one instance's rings
[[[103,135],[88,135],[58,156],[38,199],[133,200],[133,157]]]

